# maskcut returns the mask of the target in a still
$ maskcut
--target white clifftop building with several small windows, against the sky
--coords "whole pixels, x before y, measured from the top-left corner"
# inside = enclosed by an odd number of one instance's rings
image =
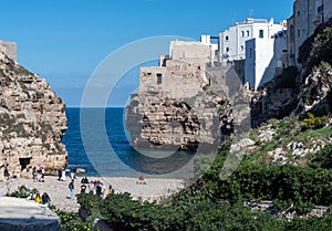
[[[248,18],[245,22],[237,22],[235,27],[219,33],[219,62],[243,60],[246,41],[271,38],[281,30],[283,25],[274,24],[273,19]]]

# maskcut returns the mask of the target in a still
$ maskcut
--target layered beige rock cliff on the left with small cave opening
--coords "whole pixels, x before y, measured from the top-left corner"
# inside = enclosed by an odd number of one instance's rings
[[[17,177],[40,165],[56,174],[68,162],[66,128],[65,104],[46,81],[0,53],[0,179],[6,168]]]

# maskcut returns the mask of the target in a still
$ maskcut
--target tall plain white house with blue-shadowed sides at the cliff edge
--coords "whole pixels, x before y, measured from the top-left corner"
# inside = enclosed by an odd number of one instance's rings
[[[250,88],[257,90],[287,67],[287,31],[281,30],[246,42],[245,82]]]

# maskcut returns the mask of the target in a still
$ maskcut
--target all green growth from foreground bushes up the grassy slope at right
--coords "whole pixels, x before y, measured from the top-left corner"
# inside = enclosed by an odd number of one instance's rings
[[[322,218],[300,219],[314,206],[332,204],[332,145],[315,154],[302,157],[302,165],[262,164],[268,151],[302,143],[311,147],[318,139],[328,139],[331,126],[322,126],[328,117],[271,119],[262,127],[250,130],[249,137],[257,148],[245,156],[238,168],[226,180],[219,178],[229,155],[231,140],[224,143],[215,160],[200,156],[195,160],[197,181],[164,199],[160,203],[133,200],[128,193],[111,195],[102,200],[91,195],[80,195],[81,209],[91,218],[110,223],[112,229],[143,230],[329,230],[332,214]],[[259,130],[271,129],[271,140],[261,141]],[[305,161],[304,161],[305,160]],[[267,212],[251,211],[243,199],[271,200]],[[280,212],[289,209],[293,220],[281,219]],[[92,219],[90,219],[92,220]],[[89,219],[87,219],[89,221]]]

